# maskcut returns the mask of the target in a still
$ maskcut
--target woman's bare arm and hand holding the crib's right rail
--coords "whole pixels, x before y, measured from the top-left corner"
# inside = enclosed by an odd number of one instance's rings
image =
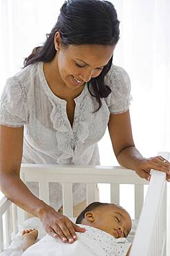
[[[110,114],[109,135],[114,149],[114,154],[118,163],[131,170],[145,179],[150,178],[150,170],[160,170],[167,173],[167,179],[170,178],[170,163],[164,163],[162,156],[144,158],[138,152],[134,145],[134,139],[131,131],[131,120],[129,111],[120,114]]]

